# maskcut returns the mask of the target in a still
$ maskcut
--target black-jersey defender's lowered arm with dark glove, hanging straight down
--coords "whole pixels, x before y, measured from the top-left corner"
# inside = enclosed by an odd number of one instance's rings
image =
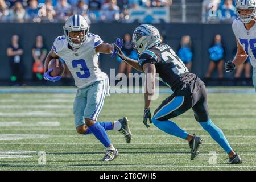
[[[150,113],[150,103],[151,103],[151,97],[154,96],[154,93],[155,93],[156,69],[154,64],[145,63],[143,65],[143,70],[146,74],[146,93],[144,94],[145,107],[144,107],[143,123],[144,125],[146,125],[146,127],[150,127],[150,125],[147,124],[147,119],[149,119],[150,123],[152,123],[151,113]]]

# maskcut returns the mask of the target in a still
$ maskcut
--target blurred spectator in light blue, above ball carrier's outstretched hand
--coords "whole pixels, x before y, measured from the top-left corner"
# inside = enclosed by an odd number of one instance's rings
[[[101,8],[101,20],[104,22],[113,22],[119,20],[119,10],[117,0],[110,0],[109,3],[105,3]]]

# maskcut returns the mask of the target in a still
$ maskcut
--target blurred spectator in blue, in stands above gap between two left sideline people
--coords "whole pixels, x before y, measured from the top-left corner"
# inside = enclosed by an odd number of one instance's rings
[[[38,1],[37,0],[30,0],[28,2],[27,12],[25,15],[25,20],[32,21],[32,22],[39,22],[39,16],[38,16]]]

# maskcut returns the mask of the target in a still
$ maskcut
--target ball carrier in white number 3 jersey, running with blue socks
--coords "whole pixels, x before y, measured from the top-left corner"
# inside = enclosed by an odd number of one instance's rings
[[[77,94],[73,105],[75,126],[79,134],[94,134],[106,147],[106,154],[102,160],[110,161],[118,156],[118,151],[110,142],[106,130],[117,130],[130,143],[131,131],[127,118],[114,122],[97,121],[104,104],[105,96],[109,94],[108,76],[98,68],[99,53],[117,52],[113,44],[104,43],[100,36],[89,33],[89,25],[80,15],[72,15],[67,19],[64,36],[55,39],[52,49],[44,64],[44,78],[48,81],[58,81],[60,76],[52,77],[48,70],[49,61],[53,58],[63,60],[71,71],[77,86]],[[117,39],[115,44],[122,46],[122,40]],[[96,122],[97,121],[97,122]]]

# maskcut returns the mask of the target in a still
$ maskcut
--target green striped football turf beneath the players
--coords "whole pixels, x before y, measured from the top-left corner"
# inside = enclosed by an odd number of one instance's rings
[[[41,92],[46,88],[26,89]],[[154,125],[149,129],[143,125],[142,94],[106,97],[98,121],[128,117],[133,140],[127,144],[117,131],[108,131],[119,157],[101,162],[104,147],[100,142],[93,135],[76,133],[72,113],[74,88],[46,89],[53,93],[7,93],[7,88],[0,93],[0,170],[256,170],[255,94],[212,89],[221,92],[208,94],[210,117],[241,155],[242,164],[226,164],[228,156],[189,110],[172,121],[203,139],[200,155],[191,161],[185,140],[171,137]],[[152,102],[152,113],[168,95],[160,94]]]

